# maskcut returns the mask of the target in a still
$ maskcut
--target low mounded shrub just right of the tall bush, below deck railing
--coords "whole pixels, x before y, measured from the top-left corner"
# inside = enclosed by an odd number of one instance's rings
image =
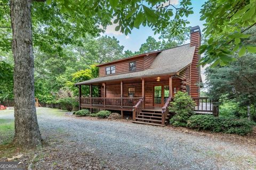
[[[193,115],[189,117],[187,126],[198,130],[221,131],[219,120],[213,115]]]

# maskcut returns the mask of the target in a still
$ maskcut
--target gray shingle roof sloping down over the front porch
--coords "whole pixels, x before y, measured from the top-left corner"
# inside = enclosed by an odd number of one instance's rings
[[[157,75],[175,74],[188,66],[195,53],[195,46],[190,47],[190,44],[165,49],[157,55],[151,67],[147,70],[130,72],[123,74],[108,75],[83,82],[76,85],[99,83],[110,80],[122,80],[129,78],[153,77]]]

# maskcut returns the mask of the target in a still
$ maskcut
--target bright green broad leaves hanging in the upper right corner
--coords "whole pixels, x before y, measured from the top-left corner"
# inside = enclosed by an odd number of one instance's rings
[[[203,33],[208,40],[200,48],[205,55],[201,64],[223,66],[235,60],[234,54],[256,53],[255,44],[242,43],[250,37],[246,30],[256,24],[256,0],[208,0],[202,7]]]

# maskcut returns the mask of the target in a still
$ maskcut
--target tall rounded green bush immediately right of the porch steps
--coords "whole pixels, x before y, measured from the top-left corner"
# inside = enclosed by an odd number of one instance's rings
[[[170,123],[174,126],[186,126],[188,118],[194,114],[194,107],[195,101],[187,92],[178,91],[173,102],[170,103],[169,110],[175,113]]]

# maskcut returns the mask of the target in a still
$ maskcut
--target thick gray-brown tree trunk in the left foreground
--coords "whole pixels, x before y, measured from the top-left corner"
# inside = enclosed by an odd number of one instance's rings
[[[14,57],[13,143],[23,148],[42,144],[36,117],[31,0],[11,0],[12,52]]]

